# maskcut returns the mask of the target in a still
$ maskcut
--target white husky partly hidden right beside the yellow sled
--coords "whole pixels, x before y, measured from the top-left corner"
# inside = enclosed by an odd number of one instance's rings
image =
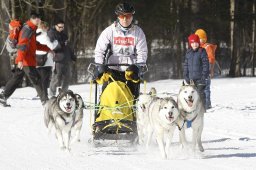
[[[156,97],[156,89],[151,88],[149,93],[142,93],[138,100],[138,113],[137,113],[137,130],[139,136],[139,144],[145,142],[146,132],[149,126],[148,112],[150,102]]]

